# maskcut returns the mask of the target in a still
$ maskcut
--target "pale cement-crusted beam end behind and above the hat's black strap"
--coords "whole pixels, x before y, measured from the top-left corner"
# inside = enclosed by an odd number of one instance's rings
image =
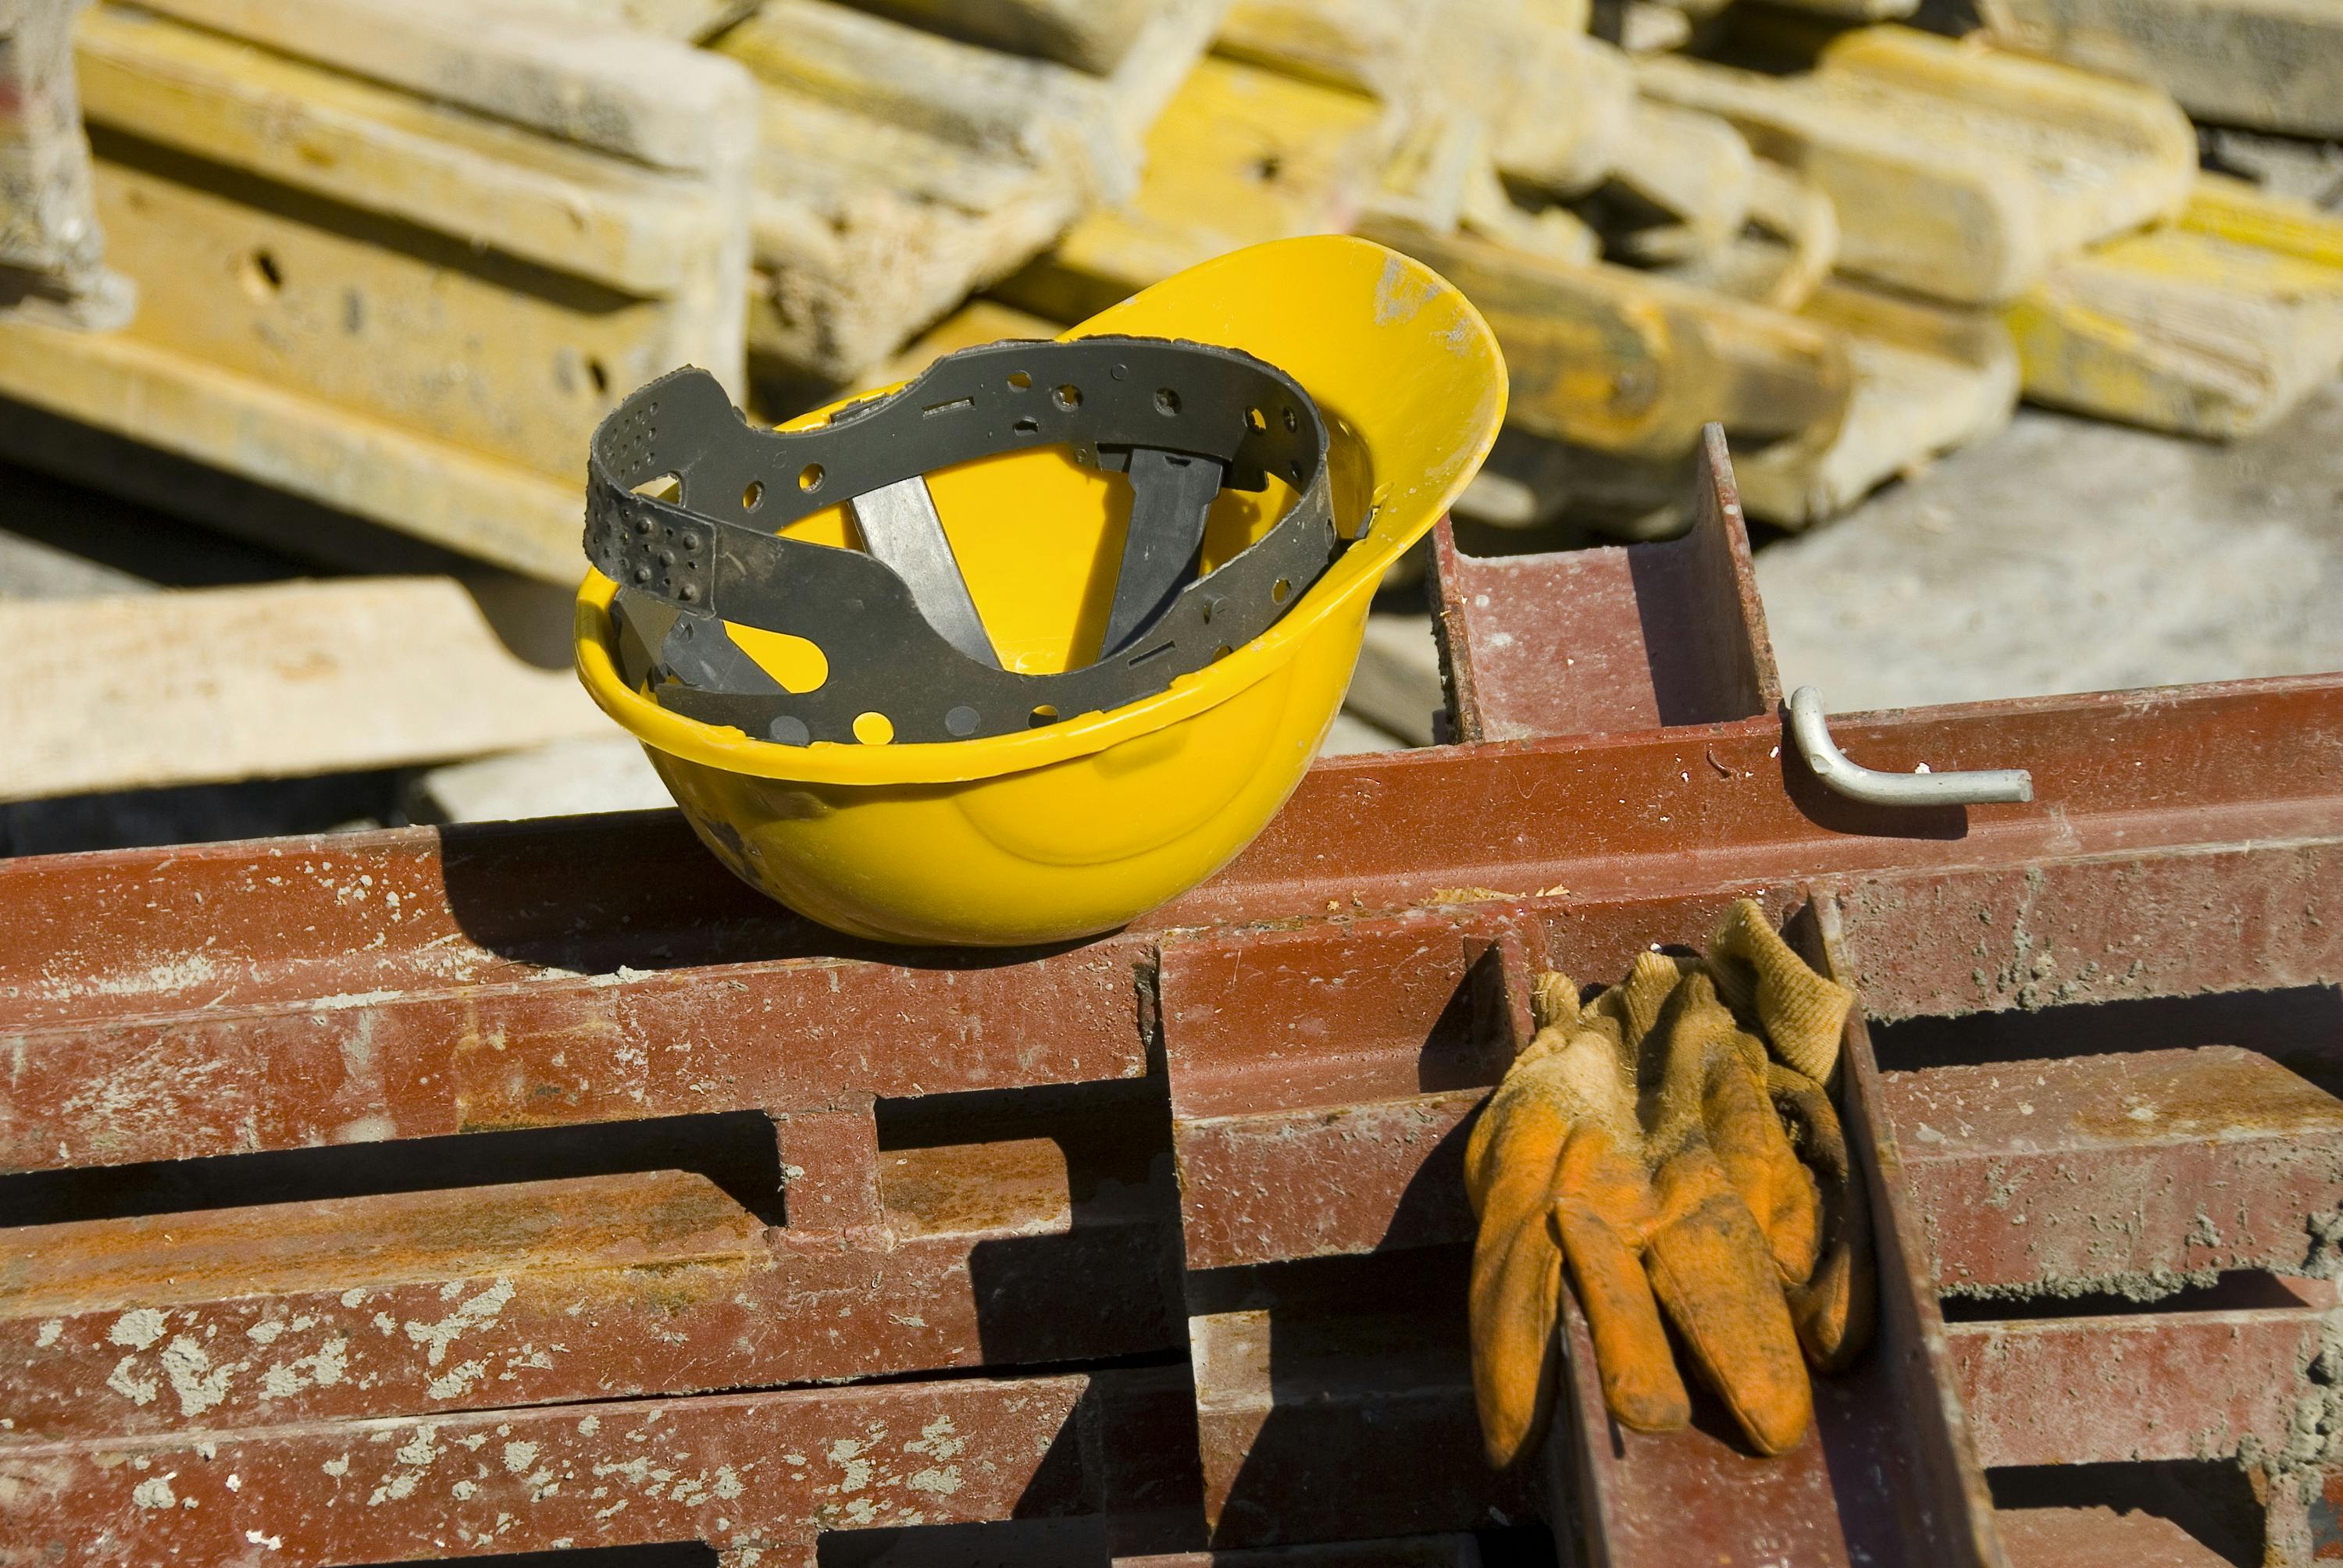
[[[773,0],[717,47],[764,84],[750,345],[851,382],[1082,213],[1127,199],[1141,136],[1225,0],[1160,0],[1108,75],[829,0]]]

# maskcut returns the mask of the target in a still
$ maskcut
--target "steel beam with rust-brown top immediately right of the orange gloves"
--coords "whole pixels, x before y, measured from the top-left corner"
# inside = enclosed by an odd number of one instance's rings
[[[2156,1298],[2331,1268],[2306,1216],[2343,1207],[2343,1102],[2233,1045],[2139,1045],[1888,1073],[1945,1291]]]

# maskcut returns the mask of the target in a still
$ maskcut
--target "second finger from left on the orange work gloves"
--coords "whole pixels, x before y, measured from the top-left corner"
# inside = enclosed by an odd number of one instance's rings
[[[1692,1420],[1675,1350],[1659,1322],[1640,1242],[1657,1219],[1652,1181],[1600,1127],[1563,1148],[1553,1223],[1596,1341],[1603,1404],[1633,1432],[1675,1432]]]

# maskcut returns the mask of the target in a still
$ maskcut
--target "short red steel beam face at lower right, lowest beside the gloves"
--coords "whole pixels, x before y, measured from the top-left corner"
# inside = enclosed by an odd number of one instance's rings
[[[2317,1305],[1952,1324],[1952,1359],[1987,1465],[2111,1465],[2284,1453]]]

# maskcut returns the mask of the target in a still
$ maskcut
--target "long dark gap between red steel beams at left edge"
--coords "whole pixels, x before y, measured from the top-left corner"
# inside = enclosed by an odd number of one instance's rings
[[[783,1223],[780,1146],[764,1111],[23,1172],[0,1177],[0,1214],[49,1226],[651,1170],[708,1177],[764,1223]]]

